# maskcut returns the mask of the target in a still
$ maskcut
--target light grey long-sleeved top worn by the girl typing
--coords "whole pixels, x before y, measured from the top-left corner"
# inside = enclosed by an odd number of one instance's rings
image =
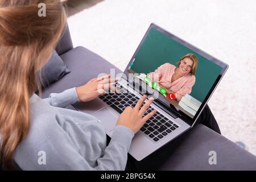
[[[133,132],[116,126],[106,146],[103,126],[92,115],[64,107],[78,102],[76,89],[30,98],[30,130],[14,152],[23,170],[124,170]]]

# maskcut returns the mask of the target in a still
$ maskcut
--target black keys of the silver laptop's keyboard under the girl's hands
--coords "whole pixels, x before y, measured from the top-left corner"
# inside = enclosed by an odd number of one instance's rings
[[[134,107],[137,104],[139,97],[135,96],[131,92],[128,92],[128,90],[124,89],[122,85],[118,83],[115,83],[115,88],[119,90],[119,94],[110,92],[104,96],[99,96],[99,98],[120,114],[123,112],[123,110],[125,110],[125,107]],[[150,113],[152,110],[154,109],[151,106],[148,107],[143,116]],[[151,140],[158,142],[160,139],[166,137],[178,127],[179,126],[176,125],[176,123],[170,121],[170,119],[164,117],[164,115],[156,111],[156,114],[148,119],[148,121],[141,127],[141,131]]]

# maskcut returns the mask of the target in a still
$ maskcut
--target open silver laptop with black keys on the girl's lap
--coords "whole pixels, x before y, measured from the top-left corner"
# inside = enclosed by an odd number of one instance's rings
[[[195,55],[198,60],[196,81],[191,92],[181,94],[175,100],[175,95],[167,94],[166,89],[150,80],[149,76],[166,63],[178,67],[177,62],[188,53]],[[151,23],[125,71],[115,83],[119,93],[110,92],[93,101],[73,106],[98,118],[106,134],[112,137],[118,116],[126,106],[134,107],[144,94],[154,97],[145,114],[153,109],[157,113],[135,134],[129,150],[129,154],[140,161],[195,126],[227,69],[227,64]]]

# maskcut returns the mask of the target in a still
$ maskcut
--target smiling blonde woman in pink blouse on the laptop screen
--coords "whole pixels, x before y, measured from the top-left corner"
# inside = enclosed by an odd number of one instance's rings
[[[152,81],[158,82],[160,87],[166,88],[167,94],[175,94],[177,101],[180,101],[186,93],[191,93],[196,82],[198,59],[192,53],[188,53],[181,57],[177,64],[178,67],[165,63],[150,73],[150,77]]]

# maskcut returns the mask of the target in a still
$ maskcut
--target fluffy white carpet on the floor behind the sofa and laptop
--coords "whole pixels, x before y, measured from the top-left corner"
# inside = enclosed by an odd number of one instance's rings
[[[74,46],[125,69],[151,22],[229,64],[209,106],[256,155],[256,1],[105,0],[68,18]],[[100,65],[99,65],[100,66]]]

